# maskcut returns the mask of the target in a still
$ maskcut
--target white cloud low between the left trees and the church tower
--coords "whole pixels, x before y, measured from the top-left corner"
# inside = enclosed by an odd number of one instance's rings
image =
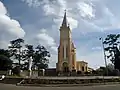
[[[36,38],[37,42],[39,42],[41,45],[44,45],[51,54],[49,66],[55,67],[57,62],[57,46],[55,40],[48,35],[46,29],[41,29]]]

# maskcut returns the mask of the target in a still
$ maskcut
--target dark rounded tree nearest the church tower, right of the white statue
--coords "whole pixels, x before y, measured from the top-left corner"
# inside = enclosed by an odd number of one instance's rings
[[[38,69],[48,68],[49,57],[50,53],[47,49],[44,46],[38,45],[33,56],[34,66],[37,66]]]

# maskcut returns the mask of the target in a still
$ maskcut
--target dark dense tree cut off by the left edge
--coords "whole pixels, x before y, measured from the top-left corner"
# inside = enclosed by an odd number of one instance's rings
[[[0,49],[0,70],[8,70],[12,68],[8,50]]]

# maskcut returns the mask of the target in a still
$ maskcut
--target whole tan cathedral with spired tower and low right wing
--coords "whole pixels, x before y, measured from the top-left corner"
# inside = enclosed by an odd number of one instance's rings
[[[88,63],[84,61],[76,61],[76,48],[72,41],[71,29],[67,22],[66,12],[59,31],[60,43],[58,46],[58,62],[56,63],[57,72],[87,72]]]

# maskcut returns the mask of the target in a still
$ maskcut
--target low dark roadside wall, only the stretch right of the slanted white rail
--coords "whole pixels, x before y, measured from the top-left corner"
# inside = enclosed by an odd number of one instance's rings
[[[88,84],[88,83],[105,83],[120,82],[119,77],[40,77],[25,79],[24,84]]]

